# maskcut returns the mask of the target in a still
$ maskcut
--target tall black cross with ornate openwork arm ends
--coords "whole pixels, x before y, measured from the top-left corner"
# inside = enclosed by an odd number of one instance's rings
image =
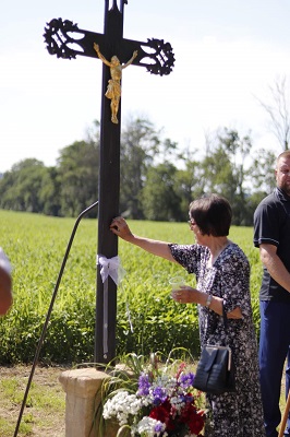
[[[172,47],[164,39],[137,42],[123,38],[123,12],[126,0],[105,0],[105,32],[98,34],[77,27],[72,21],[53,19],[45,27],[45,42],[50,55],[74,59],[77,55],[98,58],[99,48],[107,60],[117,57],[121,64],[131,60],[134,66],[145,67],[153,74],[165,75],[172,71],[174,55]],[[136,56],[133,54],[136,52]],[[133,57],[133,59],[132,59]],[[102,67],[101,119],[100,119],[100,168],[98,255],[108,260],[118,255],[118,239],[109,231],[111,220],[119,215],[120,192],[120,119],[121,101],[118,101],[118,118],[112,122],[112,111],[106,88],[111,80],[108,64]],[[95,361],[108,363],[116,356],[117,285],[108,277],[108,296],[104,293],[100,267],[97,270],[97,302],[95,330]],[[105,317],[104,307],[107,316]],[[105,316],[104,316],[105,315]],[[108,323],[105,321],[108,321]],[[106,331],[106,335],[104,332]],[[108,344],[105,344],[108,343]]]

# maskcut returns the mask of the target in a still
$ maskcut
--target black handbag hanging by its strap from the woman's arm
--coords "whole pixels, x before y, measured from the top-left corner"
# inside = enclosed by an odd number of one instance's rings
[[[223,310],[223,323],[227,332],[227,316]],[[193,387],[206,393],[221,394],[235,391],[234,364],[229,346],[205,345],[197,364]]]

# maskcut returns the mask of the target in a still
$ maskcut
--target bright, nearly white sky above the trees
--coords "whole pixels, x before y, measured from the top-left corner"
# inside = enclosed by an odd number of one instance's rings
[[[111,3],[110,3],[111,4]],[[118,0],[119,4],[119,0]],[[0,173],[25,158],[53,166],[60,150],[100,119],[101,61],[48,54],[52,19],[104,32],[105,0],[14,0],[0,14]],[[254,149],[281,152],[258,99],[290,71],[289,0],[128,0],[123,36],[169,42],[169,75],[130,66],[122,75],[122,123],[149,119],[181,149],[205,147],[219,128],[251,131]]]

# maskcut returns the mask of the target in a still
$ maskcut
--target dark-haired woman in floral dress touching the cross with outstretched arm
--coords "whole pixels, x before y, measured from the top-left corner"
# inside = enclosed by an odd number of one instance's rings
[[[210,426],[206,437],[264,437],[258,381],[256,335],[250,296],[250,264],[243,251],[228,239],[231,208],[217,194],[190,205],[190,226],[195,245],[176,245],[133,235],[122,217],[111,231],[156,256],[178,262],[196,275],[196,288],[172,292],[181,304],[198,304],[201,346],[229,345],[235,365],[235,391],[207,394]],[[222,306],[228,318],[227,333]]]

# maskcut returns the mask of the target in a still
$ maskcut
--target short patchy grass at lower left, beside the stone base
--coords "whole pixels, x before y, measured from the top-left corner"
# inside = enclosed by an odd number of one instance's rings
[[[19,437],[64,437],[65,393],[58,378],[62,368],[37,367],[19,429]],[[0,436],[16,429],[29,366],[0,367]]]

